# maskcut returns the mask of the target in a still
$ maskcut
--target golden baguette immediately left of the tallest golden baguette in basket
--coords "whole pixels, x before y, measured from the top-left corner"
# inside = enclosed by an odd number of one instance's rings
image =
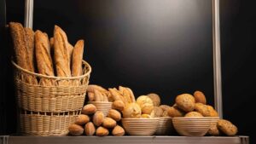
[[[35,47],[38,63],[38,73],[47,76],[54,76],[55,74],[49,49],[49,39],[46,33],[43,33],[39,30],[35,32]],[[50,86],[53,85],[53,81],[42,78],[40,80],[40,84]]]

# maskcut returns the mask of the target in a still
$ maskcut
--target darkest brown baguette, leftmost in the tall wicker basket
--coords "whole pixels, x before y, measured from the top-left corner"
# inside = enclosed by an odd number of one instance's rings
[[[14,43],[17,64],[30,72],[34,72],[33,63],[29,58],[27,49],[29,45],[26,42],[26,32],[23,26],[17,22],[10,22],[9,28]],[[23,80],[28,84],[37,84],[37,79],[29,75],[24,76]]]

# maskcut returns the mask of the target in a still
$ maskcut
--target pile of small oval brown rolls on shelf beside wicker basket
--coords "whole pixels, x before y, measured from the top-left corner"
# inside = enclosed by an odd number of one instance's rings
[[[69,126],[70,135],[97,135],[97,136],[122,136],[125,130],[119,126],[120,112],[110,110],[105,118],[103,112],[97,111],[93,104],[87,104],[82,109],[82,114]]]

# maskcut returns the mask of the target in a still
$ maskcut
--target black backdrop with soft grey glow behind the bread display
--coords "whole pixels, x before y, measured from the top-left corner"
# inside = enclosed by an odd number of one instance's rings
[[[253,3],[222,0],[220,16],[224,118],[253,143]],[[23,1],[7,1],[7,21],[23,23]],[[52,36],[54,25],[72,44],[85,40],[90,84],[128,86],[137,96],[158,93],[169,105],[176,95],[200,89],[213,105],[211,0],[35,0],[33,29]],[[16,130],[12,48],[8,37],[1,40],[0,134],[10,134]]]

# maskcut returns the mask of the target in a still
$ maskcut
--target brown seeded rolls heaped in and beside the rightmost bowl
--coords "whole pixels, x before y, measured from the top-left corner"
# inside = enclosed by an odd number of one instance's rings
[[[194,95],[177,95],[175,104],[168,108],[170,117],[218,117],[218,112],[207,105],[206,96],[201,91]],[[208,135],[236,135],[236,125],[228,120],[220,119],[217,124],[212,124]]]

